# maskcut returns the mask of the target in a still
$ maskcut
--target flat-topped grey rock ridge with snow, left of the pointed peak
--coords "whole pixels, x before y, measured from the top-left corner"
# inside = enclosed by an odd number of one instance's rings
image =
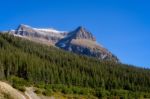
[[[18,29],[15,31],[15,34],[31,38],[43,39],[44,41],[51,41],[53,44],[64,38],[64,36],[66,35],[64,32],[54,29],[38,29],[23,24],[18,27]]]

